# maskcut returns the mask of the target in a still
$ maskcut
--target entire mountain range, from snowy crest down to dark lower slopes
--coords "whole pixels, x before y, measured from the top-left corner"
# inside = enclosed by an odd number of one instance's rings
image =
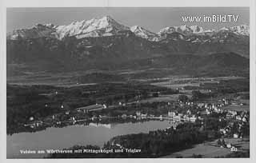
[[[223,27],[220,30],[173,26],[154,34],[141,26],[124,26],[105,16],[72,22],[67,26],[38,24],[28,29],[14,30],[7,34],[7,63],[12,71],[21,70],[15,64],[25,64],[26,69],[30,70],[49,71],[116,70],[141,66],[177,69],[187,58],[205,60],[210,56],[209,59],[219,61],[220,54],[228,54],[226,56],[230,62],[223,66],[230,69],[232,65],[232,69],[237,69],[232,60],[241,68],[237,58],[241,63],[248,62],[249,46],[250,27],[246,25]],[[212,57],[214,54],[218,55]],[[162,58],[171,58],[172,64],[156,64],[152,62],[154,58],[162,63]],[[175,59],[179,64],[174,64]],[[216,66],[217,62],[213,61],[213,64]]]

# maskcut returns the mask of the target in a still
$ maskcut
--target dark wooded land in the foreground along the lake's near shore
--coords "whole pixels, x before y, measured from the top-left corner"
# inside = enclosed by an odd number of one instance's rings
[[[120,144],[126,149],[142,149],[141,153],[54,153],[50,158],[56,157],[160,157],[167,153],[174,153],[181,149],[191,148],[194,144],[202,143],[219,137],[214,129],[203,129],[200,123],[187,122],[180,124],[176,129],[150,131],[150,133],[128,134],[113,137],[106,142],[103,149],[118,149],[114,144]],[[78,146],[70,149],[100,149],[98,146]]]

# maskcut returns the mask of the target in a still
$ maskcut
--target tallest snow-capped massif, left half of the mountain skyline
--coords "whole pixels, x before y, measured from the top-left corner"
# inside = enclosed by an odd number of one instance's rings
[[[110,36],[122,30],[130,30],[129,27],[123,26],[116,22],[110,16],[102,18],[92,18],[80,22],[71,22],[67,26],[54,26],[53,24],[37,24],[29,29],[14,30],[8,38],[40,38],[54,37],[62,39],[74,36],[76,38]]]

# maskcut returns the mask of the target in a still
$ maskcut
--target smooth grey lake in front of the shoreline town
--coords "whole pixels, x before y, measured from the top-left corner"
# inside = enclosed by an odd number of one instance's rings
[[[47,128],[36,133],[14,133],[7,135],[7,158],[40,158],[45,154],[22,154],[20,150],[64,149],[74,145],[102,146],[118,135],[148,133],[174,125],[170,121],[143,121],[136,123],[115,123],[69,125],[63,128]]]

